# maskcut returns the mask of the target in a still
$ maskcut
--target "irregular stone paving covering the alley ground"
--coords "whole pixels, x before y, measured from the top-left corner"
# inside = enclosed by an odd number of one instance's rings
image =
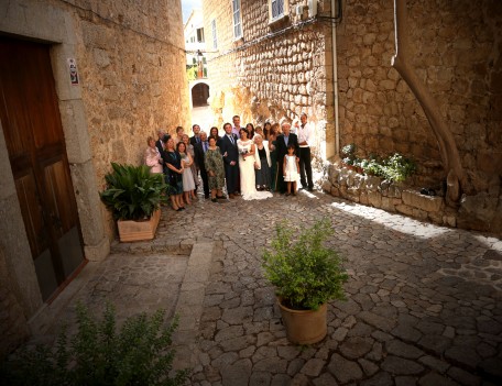
[[[329,305],[325,340],[296,346],[261,254],[276,221],[324,216],[348,300]],[[176,364],[194,368],[192,385],[502,384],[502,241],[319,191],[163,208],[156,239],[116,244],[75,298],[110,296],[124,313],[181,315]]]

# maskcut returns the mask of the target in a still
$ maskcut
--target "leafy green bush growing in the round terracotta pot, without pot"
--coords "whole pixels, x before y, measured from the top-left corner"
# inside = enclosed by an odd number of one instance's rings
[[[271,247],[263,254],[263,268],[285,306],[317,309],[329,300],[345,299],[348,275],[342,258],[324,245],[331,232],[329,219],[304,229],[296,240],[296,230],[285,223],[276,225]]]

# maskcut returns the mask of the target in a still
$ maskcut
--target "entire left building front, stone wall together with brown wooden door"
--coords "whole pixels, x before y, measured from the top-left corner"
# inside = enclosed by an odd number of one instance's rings
[[[116,225],[100,203],[110,163],[189,119],[179,0],[0,3],[0,354]],[[36,320],[35,320],[36,319]]]

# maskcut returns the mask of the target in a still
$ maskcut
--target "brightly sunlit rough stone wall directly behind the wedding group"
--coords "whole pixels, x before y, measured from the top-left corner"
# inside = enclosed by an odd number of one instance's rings
[[[215,79],[211,107],[218,124],[233,114],[243,123],[263,124],[283,117],[292,120],[305,111],[316,123],[316,147],[326,156],[326,142],[332,153],[335,141],[332,87],[327,87],[332,84],[331,29],[320,22],[301,26],[307,10],[302,19],[295,5],[304,3],[290,1],[288,20],[271,26],[266,0],[242,1],[243,38],[234,41],[231,2],[203,2],[207,44],[212,46],[215,19],[218,36],[218,52],[208,59]],[[319,12],[329,12],[323,1]]]

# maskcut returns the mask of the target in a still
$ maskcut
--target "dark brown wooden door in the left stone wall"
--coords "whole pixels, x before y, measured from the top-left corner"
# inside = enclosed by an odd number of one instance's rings
[[[0,36],[0,120],[44,300],[84,263],[48,49]]]

